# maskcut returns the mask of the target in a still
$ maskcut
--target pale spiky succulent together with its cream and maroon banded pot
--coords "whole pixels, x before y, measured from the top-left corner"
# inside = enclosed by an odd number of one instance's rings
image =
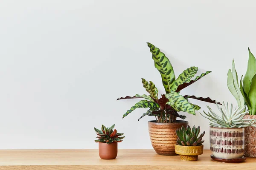
[[[233,105],[230,107],[224,102],[222,108],[216,103],[219,113],[212,111],[207,106],[210,112],[204,115],[209,119],[210,125],[210,149],[212,151],[213,159],[239,159],[244,155],[244,127],[252,125],[255,120],[244,119],[245,106],[233,109]]]

